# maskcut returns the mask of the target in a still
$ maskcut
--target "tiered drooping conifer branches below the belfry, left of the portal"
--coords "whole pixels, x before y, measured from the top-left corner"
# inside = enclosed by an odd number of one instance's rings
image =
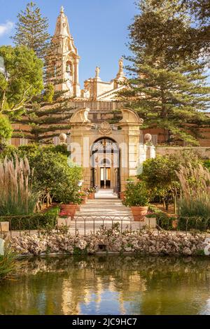
[[[14,123],[25,126],[21,131],[14,129],[13,137],[25,137],[36,144],[52,144],[53,137],[70,130],[73,108],[69,106],[69,99],[61,95],[62,92],[54,92],[52,84],[45,85],[43,93],[27,105],[24,115],[13,119]]]

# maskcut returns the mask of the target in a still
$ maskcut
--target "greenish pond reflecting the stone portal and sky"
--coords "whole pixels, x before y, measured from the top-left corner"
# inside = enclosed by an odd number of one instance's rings
[[[0,314],[210,314],[210,259],[135,256],[21,260]]]

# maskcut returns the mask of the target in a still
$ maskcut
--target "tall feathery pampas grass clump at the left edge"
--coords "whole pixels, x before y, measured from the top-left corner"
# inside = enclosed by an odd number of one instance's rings
[[[38,196],[32,191],[33,173],[27,158],[0,162],[0,216],[32,214]]]

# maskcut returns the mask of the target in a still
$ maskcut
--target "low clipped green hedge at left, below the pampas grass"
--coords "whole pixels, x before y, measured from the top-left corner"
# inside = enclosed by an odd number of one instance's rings
[[[38,230],[57,223],[57,214],[33,214],[29,216],[1,216],[0,222],[10,222],[10,230]]]

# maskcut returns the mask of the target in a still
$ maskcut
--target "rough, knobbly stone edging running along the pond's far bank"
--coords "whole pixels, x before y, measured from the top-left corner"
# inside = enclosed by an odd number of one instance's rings
[[[209,235],[210,237],[210,235]],[[66,233],[25,235],[10,238],[9,244],[20,255],[44,253],[148,253],[165,255],[204,255],[205,235],[176,232],[133,232],[73,237]]]

